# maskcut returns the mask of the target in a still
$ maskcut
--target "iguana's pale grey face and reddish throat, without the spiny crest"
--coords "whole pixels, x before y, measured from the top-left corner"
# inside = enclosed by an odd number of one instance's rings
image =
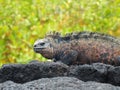
[[[54,56],[53,44],[48,38],[35,41],[33,48],[36,53],[40,53],[45,58],[52,59]]]

